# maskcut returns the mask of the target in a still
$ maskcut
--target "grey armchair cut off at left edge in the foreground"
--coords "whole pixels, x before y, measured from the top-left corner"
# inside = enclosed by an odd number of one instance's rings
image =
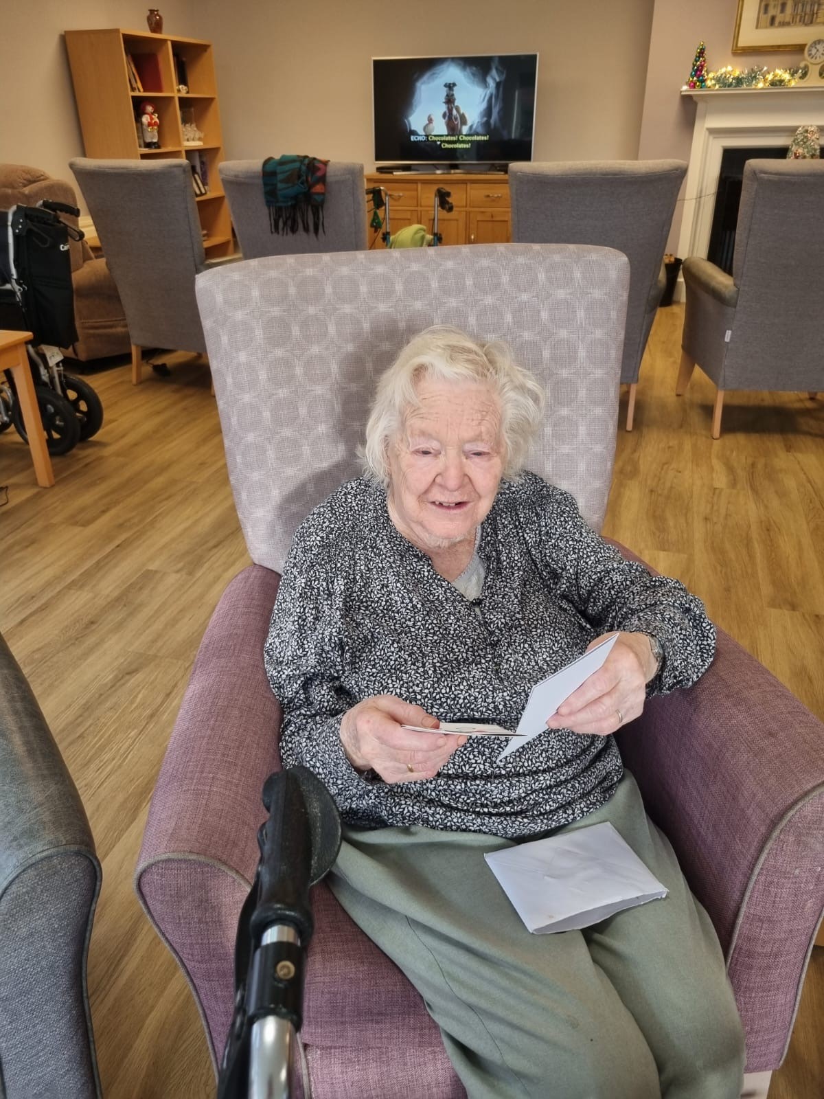
[[[0,637],[0,1096],[100,1096],[86,961],[100,863],[77,789]]]

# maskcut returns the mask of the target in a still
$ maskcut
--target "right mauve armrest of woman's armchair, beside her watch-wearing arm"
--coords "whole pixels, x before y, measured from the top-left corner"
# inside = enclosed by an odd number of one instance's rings
[[[721,940],[747,1070],[775,1068],[824,906],[824,724],[720,630],[710,670],[619,743]]]

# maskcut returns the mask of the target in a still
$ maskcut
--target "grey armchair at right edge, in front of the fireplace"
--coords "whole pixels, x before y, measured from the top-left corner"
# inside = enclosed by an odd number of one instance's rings
[[[695,365],[715,382],[713,439],[728,389],[824,389],[824,160],[748,160],[732,276],[698,256],[682,270],[676,392]]]

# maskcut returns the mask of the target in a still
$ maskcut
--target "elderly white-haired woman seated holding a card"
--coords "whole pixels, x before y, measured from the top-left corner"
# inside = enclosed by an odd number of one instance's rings
[[[470,1099],[737,1099],[717,940],[611,735],[648,695],[693,684],[715,631],[523,470],[542,402],[505,347],[449,329],[383,375],[366,475],[312,512],[283,570],[266,643],[281,755],[332,791],[330,886],[420,990]],[[502,761],[498,739],[438,732],[514,730],[537,680],[615,631],[546,732]],[[530,934],[485,852],[602,821],[666,899]]]

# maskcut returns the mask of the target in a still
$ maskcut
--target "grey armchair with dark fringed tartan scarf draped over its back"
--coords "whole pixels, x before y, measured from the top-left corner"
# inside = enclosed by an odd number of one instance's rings
[[[263,160],[224,160],[218,167],[244,259],[366,248],[363,164],[330,162],[323,203],[325,232],[322,229],[318,236],[311,231],[271,232],[269,211],[264,200],[261,166]]]

